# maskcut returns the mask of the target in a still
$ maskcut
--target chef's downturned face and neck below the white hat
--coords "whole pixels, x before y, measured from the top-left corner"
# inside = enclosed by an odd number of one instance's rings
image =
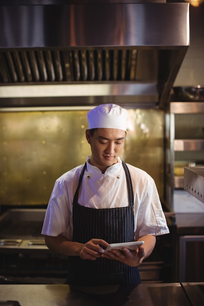
[[[96,166],[104,173],[106,169],[117,163],[121,153],[126,132],[117,129],[96,129],[93,136],[86,131],[88,143],[91,145],[90,164]]]

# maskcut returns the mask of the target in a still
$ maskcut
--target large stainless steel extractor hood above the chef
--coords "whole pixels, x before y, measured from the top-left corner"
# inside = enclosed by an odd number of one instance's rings
[[[1,1],[0,107],[165,107],[189,4],[136,2]]]

